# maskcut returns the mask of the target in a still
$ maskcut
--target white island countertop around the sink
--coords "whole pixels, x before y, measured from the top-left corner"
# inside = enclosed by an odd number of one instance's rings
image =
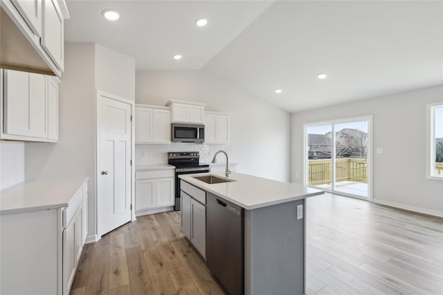
[[[234,182],[217,184],[207,184],[194,178],[203,175],[217,175],[226,178],[224,173],[183,174],[179,175],[179,178],[246,210],[268,207],[273,204],[300,200],[325,193],[318,189],[305,187],[302,184],[279,182],[242,173],[230,174],[229,179],[236,180]]]

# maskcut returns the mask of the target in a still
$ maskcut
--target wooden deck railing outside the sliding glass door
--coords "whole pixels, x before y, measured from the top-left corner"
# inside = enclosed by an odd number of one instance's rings
[[[309,184],[329,184],[332,182],[331,174],[331,159],[308,161]],[[368,162],[364,158],[337,159],[335,177],[336,181],[368,182]]]

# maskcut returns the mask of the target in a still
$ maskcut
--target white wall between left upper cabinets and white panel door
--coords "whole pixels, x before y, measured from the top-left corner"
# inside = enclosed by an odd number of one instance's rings
[[[26,180],[89,176],[89,235],[96,232],[95,44],[66,43],[59,88],[59,140],[26,142]]]

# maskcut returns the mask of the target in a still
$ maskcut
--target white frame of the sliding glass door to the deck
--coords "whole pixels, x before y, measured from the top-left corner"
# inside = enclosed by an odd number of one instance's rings
[[[343,193],[341,191],[332,191],[332,189],[323,189],[324,191],[327,191],[328,193],[334,193],[336,195],[341,195],[341,196],[347,196],[347,197],[351,197],[351,198],[357,198],[357,199],[361,199],[361,200],[369,200],[370,202],[372,202],[372,182],[373,182],[373,175],[372,175],[372,171],[373,169],[373,135],[372,135],[372,115],[363,115],[363,116],[359,116],[359,117],[345,117],[345,118],[338,118],[338,119],[331,119],[331,120],[324,120],[324,121],[316,121],[316,122],[306,122],[303,123],[303,184],[305,185],[305,187],[311,187],[314,189],[318,189],[315,186],[311,186],[308,184],[308,168],[307,168],[307,127],[308,126],[318,126],[318,125],[327,125],[330,124],[332,125],[332,131],[331,132],[335,132],[334,130],[334,124],[341,124],[341,123],[346,123],[346,122],[355,122],[355,121],[368,121],[368,145],[369,145],[369,152],[368,152],[368,160],[370,161],[370,164],[368,165],[368,198],[365,197],[361,197],[361,196],[357,196],[357,195],[352,195],[350,193]],[[335,146],[335,142],[333,142],[332,144],[332,154],[335,155],[336,152],[336,146]],[[332,158],[331,158],[332,160]],[[334,181],[335,178],[335,161],[332,161],[332,181]]]

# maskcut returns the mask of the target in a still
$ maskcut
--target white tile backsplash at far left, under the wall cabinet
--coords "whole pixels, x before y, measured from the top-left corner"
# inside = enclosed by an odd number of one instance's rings
[[[25,143],[0,142],[0,189],[25,180]]]

